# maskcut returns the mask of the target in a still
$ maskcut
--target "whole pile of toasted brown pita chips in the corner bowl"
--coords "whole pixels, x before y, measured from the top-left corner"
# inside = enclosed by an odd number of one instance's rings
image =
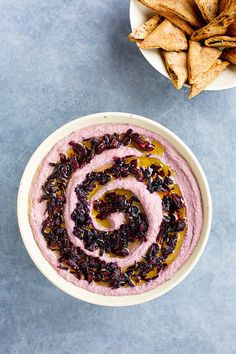
[[[139,0],[155,16],[129,34],[143,49],[159,48],[174,87],[198,95],[236,65],[236,0]]]

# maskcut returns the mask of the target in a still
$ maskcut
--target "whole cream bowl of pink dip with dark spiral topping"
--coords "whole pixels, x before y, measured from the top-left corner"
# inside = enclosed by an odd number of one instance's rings
[[[89,303],[128,306],[191,272],[212,203],[199,162],[174,133],[107,112],[42,142],[23,173],[17,215],[30,257],[55,286]]]

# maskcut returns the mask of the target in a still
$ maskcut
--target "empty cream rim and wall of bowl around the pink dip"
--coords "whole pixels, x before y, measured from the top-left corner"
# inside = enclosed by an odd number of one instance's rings
[[[38,168],[38,165],[45,157],[45,155],[47,155],[50,149],[60,139],[69,135],[75,130],[82,129],[93,124],[127,122],[152,130],[155,133],[163,136],[173,146],[175,146],[176,150],[189,163],[200,187],[203,203],[204,223],[197,247],[195,248],[192,255],[189,257],[187,262],[174,274],[174,276],[170,280],[158,286],[157,288],[149,292],[145,292],[143,294],[128,296],[104,296],[89,292],[66,281],[47,262],[34,240],[32,230],[29,224],[28,198],[31,182],[36,172],[36,169]],[[32,258],[33,262],[38,267],[38,269],[54,285],[56,285],[61,290],[65,291],[71,296],[74,296],[77,299],[84,300],[93,304],[104,306],[128,306],[143,303],[159,297],[160,295],[166,293],[174,286],[179,284],[190,273],[190,271],[193,269],[193,267],[199,260],[208,239],[211,226],[212,206],[208,183],[199,162],[197,161],[193,153],[189,150],[189,148],[175,134],[150,119],[136,116],[134,114],[114,112],[97,113],[75,119],[62,126],[61,128],[57,129],[54,133],[52,133],[47,139],[43,141],[43,143],[37,148],[37,150],[32,155],[23,173],[18,191],[17,216],[21,236],[30,257]]]

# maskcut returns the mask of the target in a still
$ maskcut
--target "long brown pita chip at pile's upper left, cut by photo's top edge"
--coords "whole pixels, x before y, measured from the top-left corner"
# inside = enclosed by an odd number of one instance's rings
[[[194,27],[202,27],[201,13],[194,0],[139,0],[143,5],[157,11],[158,8],[173,12]]]

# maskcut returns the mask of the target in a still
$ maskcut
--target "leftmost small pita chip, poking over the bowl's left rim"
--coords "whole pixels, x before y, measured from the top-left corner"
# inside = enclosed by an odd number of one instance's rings
[[[143,23],[138,28],[135,28],[129,35],[128,38],[132,42],[142,41],[147,37],[149,33],[154,31],[155,28],[161,23],[162,19],[159,15],[155,15],[145,23]]]

